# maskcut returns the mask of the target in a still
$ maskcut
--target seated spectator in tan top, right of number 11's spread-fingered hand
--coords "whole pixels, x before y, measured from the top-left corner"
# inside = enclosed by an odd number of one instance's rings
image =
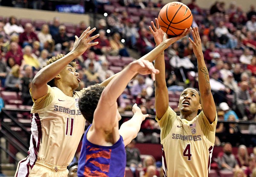
[[[121,43],[121,36],[119,33],[114,33],[112,39],[109,41],[112,55],[130,56],[124,44]]]

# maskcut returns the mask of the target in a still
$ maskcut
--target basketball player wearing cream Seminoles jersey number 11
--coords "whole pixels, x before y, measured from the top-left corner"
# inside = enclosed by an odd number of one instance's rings
[[[30,94],[31,137],[28,157],[21,160],[16,177],[68,176],[67,166],[74,158],[84,133],[85,120],[78,108],[78,99],[86,90],[74,91],[79,85],[76,63],[99,34],[89,37],[96,28],[88,27],[78,38],[71,52],[52,57],[32,81]],[[101,83],[106,86],[109,81]]]

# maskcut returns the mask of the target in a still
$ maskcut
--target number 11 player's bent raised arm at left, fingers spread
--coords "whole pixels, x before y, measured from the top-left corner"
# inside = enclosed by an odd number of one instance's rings
[[[56,77],[60,71],[68,65],[68,63],[74,60],[77,56],[82,55],[89,46],[98,44],[98,42],[89,43],[99,36],[99,34],[97,34],[89,37],[95,29],[96,28],[92,28],[90,30],[90,27],[88,27],[79,38],[76,36],[74,47],[67,55],[56,62],[49,64],[36,73],[31,85],[31,94],[34,99],[39,99],[47,93],[47,83]]]

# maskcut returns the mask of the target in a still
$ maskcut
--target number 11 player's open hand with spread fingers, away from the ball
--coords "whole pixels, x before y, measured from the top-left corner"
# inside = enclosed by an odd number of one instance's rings
[[[90,43],[92,40],[100,36],[100,34],[96,34],[95,36],[89,37],[90,34],[92,34],[92,32],[96,30],[96,28],[92,28],[91,30],[90,28],[91,27],[89,26],[79,38],[75,36],[76,41],[74,43],[74,47],[71,52],[75,52],[77,56],[82,55],[88,47],[97,45],[99,43],[99,42]]]

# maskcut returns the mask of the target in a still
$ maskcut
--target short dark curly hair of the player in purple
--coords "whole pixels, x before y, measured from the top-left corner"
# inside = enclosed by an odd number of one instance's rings
[[[100,84],[92,85],[86,89],[78,101],[79,109],[89,123],[92,123],[94,111],[104,88]]]

